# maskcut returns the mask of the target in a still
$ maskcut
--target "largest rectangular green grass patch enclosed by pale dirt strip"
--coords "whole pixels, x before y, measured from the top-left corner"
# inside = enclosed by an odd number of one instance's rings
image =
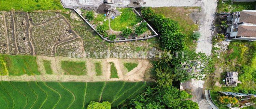
[[[86,75],[85,62],[61,61],[61,68],[65,75]]]

